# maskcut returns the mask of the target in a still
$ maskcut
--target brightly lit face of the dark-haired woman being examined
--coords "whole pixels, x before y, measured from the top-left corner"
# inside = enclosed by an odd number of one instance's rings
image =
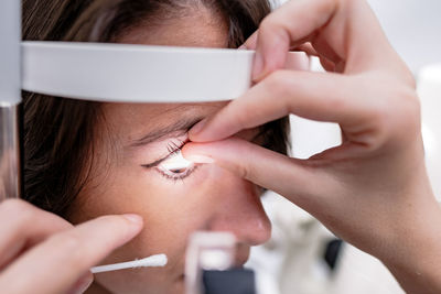
[[[157,28],[132,29],[119,41],[225,47],[227,28],[217,15],[198,11]],[[270,224],[254,184],[215,165],[169,168],[168,156],[185,143],[187,130],[224,105],[103,106],[90,182],[73,205],[71,220],[139,214],[144,229],[103,264],[157,253],[165,253],[169,263],[165,268],[97,274],[89,293],[183,293],[186,242],[196,230],[233,232],[240,242],[238,265],[248,259],[250,246],[269,238]],[[241,137],[251,140],[256,133],[250,130]]]

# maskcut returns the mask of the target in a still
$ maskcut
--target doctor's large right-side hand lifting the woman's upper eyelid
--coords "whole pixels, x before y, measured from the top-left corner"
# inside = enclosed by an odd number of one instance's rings
[[[408,293],[441,293],[441,211],[428,181],[415,80],[363,0],[295,0],[245,44],[243,97],[190,131],[185,157],[215,162],[311,213],[379,258]],[[326,73],[282,69],[290,50]],[[343,143],[309,160],[233,139],[287,115],[340,124]]]

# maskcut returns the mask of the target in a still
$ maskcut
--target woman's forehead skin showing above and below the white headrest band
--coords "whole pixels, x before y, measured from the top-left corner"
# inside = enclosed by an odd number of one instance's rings
[[[192,9],[181,18],[164,18],[161,22],[140,23],[126,30],[117,42],[144,45],[227,47],[228,25],[215,10]],[[191,70],[191,68],[189,68]],[[171,85],[172,86],[172,85]],[[169,126],[179,120],[197,120],[213,113],[225,102],[212,104],[106,104],[106,123],[128,140],[146,131]]]

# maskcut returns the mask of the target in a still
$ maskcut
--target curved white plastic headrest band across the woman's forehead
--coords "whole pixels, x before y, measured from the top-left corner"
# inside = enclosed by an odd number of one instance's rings
[[[24,42],[24,90],[107,102],[208,102],[251,86],[255,52],[128,44]],[[305,67],[303,53],[288,63]],[[306,66],[308,67],[308,66]]]

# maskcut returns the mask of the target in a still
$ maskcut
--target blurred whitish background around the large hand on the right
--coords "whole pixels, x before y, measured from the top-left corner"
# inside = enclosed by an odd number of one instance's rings
[[[441,200],[441,1],[368,2],[417,79],[426,164]],[[306,159],[340,143],[340,129],[333,123],[291,117],[291,128],[295,157]],[[254,249],[248,264],[258,272],[260,294],[405,293],[378,260],[341,242],[284,198],[269,194],[263,205],[273,224],[272,238]]]

